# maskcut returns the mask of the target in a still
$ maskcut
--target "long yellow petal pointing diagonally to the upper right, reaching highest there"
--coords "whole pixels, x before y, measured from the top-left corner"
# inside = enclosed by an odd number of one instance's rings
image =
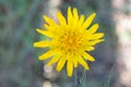
[[[94,20],[95,16],[96,16],[96,13],[91,14],[86,18],[86,21],[84,22],[84,24],[82,25],[82,28],[84,28],[84,29],[87,28],[91,25],[91,23],[93,22],[93,20]]]

